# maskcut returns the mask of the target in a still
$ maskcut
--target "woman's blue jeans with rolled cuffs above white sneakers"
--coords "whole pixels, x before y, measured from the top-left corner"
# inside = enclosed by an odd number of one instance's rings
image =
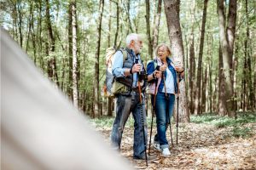
[[[175,103],[174,94],[166,94],[159,92],[155,98],[155,116],[156,116],[156,127],[157,134],[154,136],[154,142],[160,144],[160,149],[169,147],[166,139],[166,130],[168,123],[171,123],[173,107]]]

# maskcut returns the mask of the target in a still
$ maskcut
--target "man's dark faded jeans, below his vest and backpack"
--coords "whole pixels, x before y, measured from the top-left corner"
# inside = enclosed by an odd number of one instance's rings
[[[145,99],[143,97],[143,117],[141,113],[141,105],[139,94],[132,91],[131,95],[119,95],[117,97],[116,117],[113,122],[113,129],[111,133],[111,142],[114,148],[120,149],[122,134],[130,113],[134,118],[134,142],[133,142],[133,156],[142,157],[145,154],[143,130],[145,131],[146,144],[148,144]],[[144,121],[144,127],[143,127]]]

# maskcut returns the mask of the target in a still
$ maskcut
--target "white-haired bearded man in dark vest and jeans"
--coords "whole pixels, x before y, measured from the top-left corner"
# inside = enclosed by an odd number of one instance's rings
[[[138,81],[139,72],[144,71],[143,62],[140,53],[143,48],[142,38],[131,33],[126,37],[127,59],[123,59],[123,53],[117,51],[113,55],[113,76],[116,81],[125,85],[127,91],[117,95],[116,117],[113,122],[111,142],[116,150],[120,150],[122,134],[125,122],[130,113],[134,118],[134,142],[133,157],[134,159],[145,159],[145,144],[147,144],[148,133],[146,124],[144,87],[145,82]],[[138,82],[140,84],[138,84]],[[139,92],[138,86],[141,86],[142,93]],[[141,99],[140,99],[141,94]],[[145,123],[144,123],[145,122]],[[144,134],[143,134],[144,131]],[[152,160],[152,157],[148,157]]]

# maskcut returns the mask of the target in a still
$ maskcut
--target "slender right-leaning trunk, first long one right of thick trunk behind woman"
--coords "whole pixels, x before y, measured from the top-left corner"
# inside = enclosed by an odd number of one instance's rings
[[[206,21],[207,21],[207,3],[208,0],[204,1],[204,9],[203,9],[203,17],[201,23],[201,39],[200,39],[200,48],[199,48],[199,56],[198,56],[198,64],[197,64],[197,77],[196,77],[196,95],[195,95],[195,114],[200,115],[201,113],[201,71],[202,71],[202,55],[204,48],[204,40],[205,40],[205,29],[206,29]]]

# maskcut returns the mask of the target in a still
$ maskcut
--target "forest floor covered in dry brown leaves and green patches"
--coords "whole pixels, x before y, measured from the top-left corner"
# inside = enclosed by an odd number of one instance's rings
[[[240,120],[240,123],[235,124],[234,121],[230,124],[223,119],[222,122],[214,124],[212,122],[216,122],[216,117],[208,117],[200,121],[195,119],[186,124],[180,123],[178,144],[176,144],[175,123],[172,122],[172,135],[174,135],[172,155],[161,156],[151,144],[150,153],[158,159],[149,161],[148,167],[145,161],[132,159],[133,122],[129,118],[125,125],[120,154],[131,161],[137,169],[256,169],[255,117],[254,115],[251,121]],[[102,133],[108,143],[112,122],[113,118],[108,118],[108,121],[105,119],[100,123],[94,122],[97,131]],[[149,131],[150,127],[148,127],[148,139]],[[154,124],[153,134],[155,132]],[[167,139],[171,143],[170,130],[167,132]]]

